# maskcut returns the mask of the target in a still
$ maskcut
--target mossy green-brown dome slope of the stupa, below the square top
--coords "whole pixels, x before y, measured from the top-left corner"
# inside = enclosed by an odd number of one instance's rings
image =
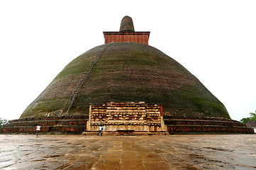
[[[94,47],[70,62],[24,111],[21,118],[64,112],[69,98],[104,47]],[[148,45],[113,43],[101,55],[79,91],[71,113],[88,114],[89,103],[161,103],[165,115],[230,118],[225,106],[181,64]]]

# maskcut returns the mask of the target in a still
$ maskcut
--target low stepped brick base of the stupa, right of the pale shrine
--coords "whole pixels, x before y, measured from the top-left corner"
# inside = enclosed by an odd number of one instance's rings
[[[170,134],[254,133],[243,123],[225,118],[165,116],[164,120]]]

